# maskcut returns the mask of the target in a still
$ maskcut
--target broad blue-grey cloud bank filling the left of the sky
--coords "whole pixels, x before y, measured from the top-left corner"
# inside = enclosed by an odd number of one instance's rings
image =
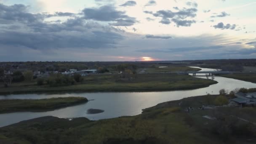
[[[55,13],[59,16],[70,16],[71,13]],[[109,19],[128,16],[114,15]],[[54,48],[115,48],[123,39],[122,31],[96,22],[85,21],[82,17],[68,19],[63,23],[51,24],[43,21],[45,14],[27,12],[24,5],[0,4],[0,45],[5,47],[26,47],[38,50]],[[129,23],[129,21],[126,21]],[[13,29],[15,27],[15,29]]]

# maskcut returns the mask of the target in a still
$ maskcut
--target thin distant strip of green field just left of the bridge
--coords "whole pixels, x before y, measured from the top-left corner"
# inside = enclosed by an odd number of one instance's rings
[[[201,69],[192,67],[156,67],[156,68],[146,68],[145,73],[165,73],[165,72],[179,72],[179,71],[199,71]]]

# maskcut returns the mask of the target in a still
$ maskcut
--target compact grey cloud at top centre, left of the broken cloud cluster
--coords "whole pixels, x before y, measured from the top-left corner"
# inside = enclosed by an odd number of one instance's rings
[[[127,16],[123,11],[117,11],[115,7],[104,5],[99,8],[85,8],[83,10],[85,19],[96,21],[116,21],[113,26],[131,26],[135,24],[136,18]]]

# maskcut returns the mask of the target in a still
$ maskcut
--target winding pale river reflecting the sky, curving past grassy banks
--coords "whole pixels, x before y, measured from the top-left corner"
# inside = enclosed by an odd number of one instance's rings
[[[199,67],[196,67],[199,68]],[[201,71],[214,71],[214,69],[201,68]],[[196,77],[206,78],[205,75]],[[209,77],[211,78],[211,77]],[[190,96],[200,96],[206,93],[219,94],[222,88],[232,91],[235,88],[256,88],[256,83],[245,82],[225,77],[214,77],[218,83],[207,88],[183,91],[164,92],[118,92],[118,93],[65,93],[65,94],[15,94],[0,96],[0,99],[44,99],[52,97],[83,96],[95,99],[88,103],[57,109],[50,112],[13,112],[0,114],[0,127],[29,120],[36,117],[55,116],[61,118],[87,117],[90,120],[100,120],[120,116],[138,115],[141,109],[155,106],[156,104],[178,100]],[[105,112],[95,115],[86,113],[87,109],[104,109]]]

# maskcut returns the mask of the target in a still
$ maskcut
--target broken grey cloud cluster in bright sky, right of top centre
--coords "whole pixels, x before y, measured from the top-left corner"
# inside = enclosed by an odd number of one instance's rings
[[[160,10],[156,13],[152,11],[144,11],[144,13],[152,14],[155,17],[161,17],[162,20],[159,21],[162,24],[170,24],[171,21],[176,23],[177,27],[190,27],[191,24],[196,23],[195,20],[186,20],[187,18],[194,18],[196,16],[196,8],[183,8],[178,12],[173,12],[170,10]]]

